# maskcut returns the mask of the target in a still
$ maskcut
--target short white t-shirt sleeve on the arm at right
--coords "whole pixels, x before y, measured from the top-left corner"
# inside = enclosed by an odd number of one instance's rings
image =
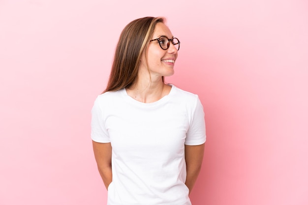
[[[206,141],[206,133],[203,106],[198,96],[192,112],[190,126],[186,134],[185,145],[201,145]]]

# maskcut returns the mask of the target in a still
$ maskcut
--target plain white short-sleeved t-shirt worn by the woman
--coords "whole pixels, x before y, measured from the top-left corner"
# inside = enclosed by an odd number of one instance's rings
[[[141,103],[122,89],[97,97],[91,138],[112,146],[107,205],[191,205],[185,185],[184,145],[206,140],[197,95],[172,85],[154,103]]]

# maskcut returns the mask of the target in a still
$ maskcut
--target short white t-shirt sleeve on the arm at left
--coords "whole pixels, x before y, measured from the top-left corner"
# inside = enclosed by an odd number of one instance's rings
[[[108,143],[109,135],[105,128],[104,115],[101,109],[101,103],[96,98],[92,107],[92,121],[91,121],[91,138],[95,142]]]

